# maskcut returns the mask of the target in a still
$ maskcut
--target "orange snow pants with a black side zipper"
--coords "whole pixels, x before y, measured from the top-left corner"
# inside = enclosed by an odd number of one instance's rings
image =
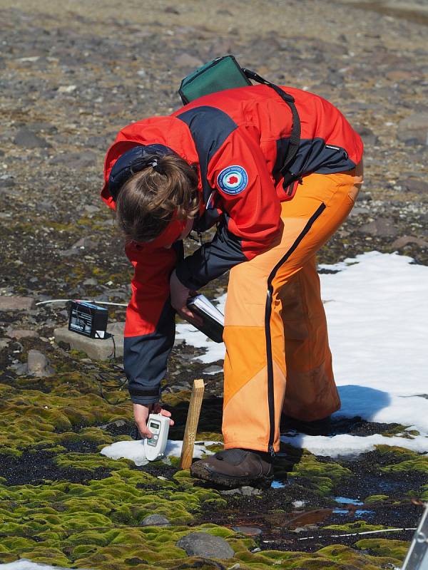
[[[362,184],[354,170],[303,177],[282,202],[282,237],[230,270],[225,306],[225,449],[278,451],[280,417],[340,408],[315,254],[342,224]]]

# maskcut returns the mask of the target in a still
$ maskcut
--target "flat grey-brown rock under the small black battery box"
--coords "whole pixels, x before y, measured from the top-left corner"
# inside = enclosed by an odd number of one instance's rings
[[[68,331],[68,327],[61,326],[54,330],[56,343],[69,344],[76,351],[82,351],[89,358],[96,361],[106,361],[108,358],[123,356],[123,328],[124,323],[113,323],[108,327],[108,332],[113,334],[113,338],[89,338],[82,334]]]

